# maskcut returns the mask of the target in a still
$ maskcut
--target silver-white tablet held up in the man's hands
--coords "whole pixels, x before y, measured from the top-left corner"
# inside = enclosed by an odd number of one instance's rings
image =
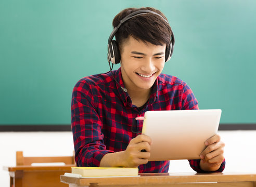
[[[204,141],[216,135],[221,110],[147,111],[142,133],[152,139],[149,161],[200,159]]]

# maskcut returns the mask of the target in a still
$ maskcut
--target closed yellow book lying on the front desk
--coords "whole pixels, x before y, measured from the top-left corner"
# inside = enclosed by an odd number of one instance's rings
[[[137,176],[138,168],[123,167],[71,167],[72,173],[82,177]]]

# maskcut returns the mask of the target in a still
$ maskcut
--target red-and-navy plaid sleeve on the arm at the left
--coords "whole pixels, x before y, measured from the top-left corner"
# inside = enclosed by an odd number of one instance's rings
[[[78,82],[72,93],[71,121],[75,150],[75,162],[78,166],[99,167],[101,158],[113,151],[106,150],[103,123],[96,111],[97,103],[91,85]]]

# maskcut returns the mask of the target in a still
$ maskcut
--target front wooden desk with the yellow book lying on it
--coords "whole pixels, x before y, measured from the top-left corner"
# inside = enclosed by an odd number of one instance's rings
[[[151,173],[139,177],[74,178],[60,181],[75,186],[245,186],[256,187],[256,173]]]

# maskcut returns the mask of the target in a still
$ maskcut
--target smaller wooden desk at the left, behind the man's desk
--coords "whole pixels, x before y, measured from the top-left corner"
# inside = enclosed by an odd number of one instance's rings
[[[16,166],[4,167],[9,171],[10,186],[12,187],[67,187],[68,184],[61,183],[60,175],[71,172],[71,166]]]

